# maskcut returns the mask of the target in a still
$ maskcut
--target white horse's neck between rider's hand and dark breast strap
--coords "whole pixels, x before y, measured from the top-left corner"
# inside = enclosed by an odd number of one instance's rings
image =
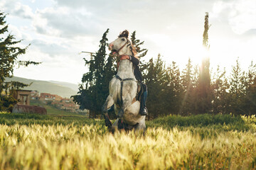
[[[117,76],[121,77],[122,79],[135,78],[132,62],[129,60],[121,60],[119,63]]]

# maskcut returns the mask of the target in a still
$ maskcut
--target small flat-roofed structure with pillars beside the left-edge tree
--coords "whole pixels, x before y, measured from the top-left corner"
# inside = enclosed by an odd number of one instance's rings
[[[30,105],[31,91],[29,90],[14,90],[14,98],[18,100],[18,104]]]

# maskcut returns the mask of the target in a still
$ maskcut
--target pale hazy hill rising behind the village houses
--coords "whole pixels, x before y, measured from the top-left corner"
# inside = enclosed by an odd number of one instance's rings
[[[25,90],[37,90],[40,93],[49,93],[49,94],[57,94],[62,97],[70,98],[77,94],[78,85],[70,84],[67,82],[60,82],[60,81],[41,81],[41,80],[34,80],[34,79],[25,79],[21,77],[12,77],[11,79],[6,79],[6,81],[20,81],[24,84],[31,84],[31,86],[27,86]]]

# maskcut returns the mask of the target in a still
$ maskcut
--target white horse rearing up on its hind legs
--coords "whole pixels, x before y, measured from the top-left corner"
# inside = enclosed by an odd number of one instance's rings
[[[121,55],[136,55],[133,52],[133,46],[128,39],[129,32],[124,30],[119,37],[110,43],[109,50],[117,53],[117,57]],[[107,115],[107,109],[114,104],[114,112],[118,113],[113,127],[119,128],[120,123],[126,130],[146,130],[145,115],[139,113],[140,102],[137,101],[139,92],[138,81],[134,76],[134,67],[131,61],[121,60],[117,75],[110,81],[110,95],[102,107],[102,113]],[[110,121],[109,121],[110,122]],[[111,124],[111,123],[110,123]],[[110,126],[109,126],[110,127]],[[119,128],[120,129],[120,128]]]

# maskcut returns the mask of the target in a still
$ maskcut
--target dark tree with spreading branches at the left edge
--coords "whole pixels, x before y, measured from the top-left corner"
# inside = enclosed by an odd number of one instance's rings
[[[17,40],[8,30],[5,21],[6,15],[0,12],[0,111],[11,111],[17,100],[13,97],[13,90],[20,89],[28,84],[18,81],[6,81],[6,78],[13,77],[14,67],[28,67],[30,64],[40,64],[40,62],[18,61],[19,55],[24,55],[25,48],[17,47],[21,40]]]

